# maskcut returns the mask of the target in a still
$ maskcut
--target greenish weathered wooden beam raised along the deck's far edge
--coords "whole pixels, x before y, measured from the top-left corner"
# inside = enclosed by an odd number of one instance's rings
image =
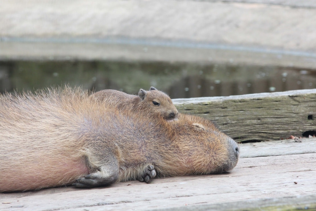
[[[173,99],[179,112],[203,116],[236,141],[280,140],[316,131],[316,89]]]

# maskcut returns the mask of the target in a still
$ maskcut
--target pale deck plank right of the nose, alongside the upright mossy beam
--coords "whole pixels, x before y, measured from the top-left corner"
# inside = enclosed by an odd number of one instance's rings
[[[301,142],[297,142],[301,141]],[[239,144],[240,158],[316,153],[316,138]]]

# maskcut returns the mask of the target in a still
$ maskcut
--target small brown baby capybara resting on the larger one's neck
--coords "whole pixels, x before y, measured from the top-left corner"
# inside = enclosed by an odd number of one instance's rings
[[[132,110],[149,115],[159,114],[166,120],[172,120],[178,115],[178,110],[170,97],[155,87],[150,87],[149,91],[140,89],[138,96],[118,90],[101,90],[94,95],[101,100],[106,99],[108,104],[112,103],[122,110]]]

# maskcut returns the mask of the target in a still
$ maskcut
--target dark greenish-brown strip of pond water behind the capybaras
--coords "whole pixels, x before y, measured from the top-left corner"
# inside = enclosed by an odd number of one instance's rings
[[[171,98],[229,96],[316,88],[316,71],[276,66],[115,61],[0,62],[0,92],[69,84],[84,89],[140,88]]]

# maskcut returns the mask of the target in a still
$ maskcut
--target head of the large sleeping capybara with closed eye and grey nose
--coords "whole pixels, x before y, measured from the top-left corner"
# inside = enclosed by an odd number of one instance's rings
[[[211,121],[179,113],[172,125],[174,149],[161,172],[171,176],[222,173],[232,170],[239,159],[238,144]],[[174,174],[173,174],[174,173]],[[168,175],[169,176],[169,175]]]

